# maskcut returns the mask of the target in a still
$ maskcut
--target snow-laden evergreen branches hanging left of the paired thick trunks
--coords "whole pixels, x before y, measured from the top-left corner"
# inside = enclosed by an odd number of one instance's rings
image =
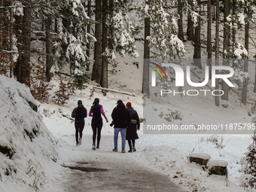
[[[61,41],[56,41],[53,45],[55,70],[69,66],[70,74],[78,86],[81,86],[89,78],[86,72],[87,64],[93,62],[86,55],[86,50],[87,43],[96,39],[85,32],[87,25],[92,24],[93,20],[87,17],[81,1],[65,1],[65,4],[57,4],[56,10],[59,17],[62,17],[62,30],[59,32]]]

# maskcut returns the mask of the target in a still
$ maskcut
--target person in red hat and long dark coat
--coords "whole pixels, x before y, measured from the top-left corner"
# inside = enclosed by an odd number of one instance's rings
[[[139,130],[139,127],[140,127],[139,115],[137,111],[134,110],[134,108],[132,107],[131,102],[126,103],[126,108],[130,112],[130,116],[131,116],[131,123],[126,130],[126,140],[128,140],[128,144],[130,147],[130,150],[128,152],[132,153],[136,151],[135,139],[139,139],[139,136],[137,134],[137,130]],[[132,142],[133,142],[133,147],[132,147]]]

